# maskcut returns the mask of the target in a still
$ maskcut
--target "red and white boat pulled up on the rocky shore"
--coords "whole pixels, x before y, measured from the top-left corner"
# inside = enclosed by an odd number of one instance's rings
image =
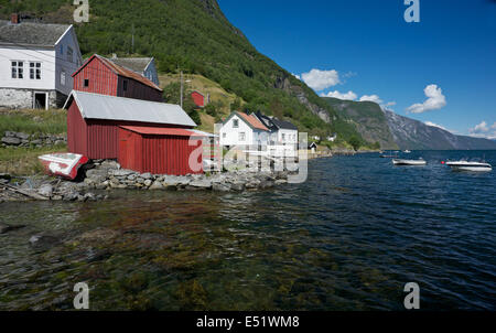
[[[60,152],[39,157],[45,172],[52,175],[74,180],[80,165],[88,163],[89,159],[78,153]]]

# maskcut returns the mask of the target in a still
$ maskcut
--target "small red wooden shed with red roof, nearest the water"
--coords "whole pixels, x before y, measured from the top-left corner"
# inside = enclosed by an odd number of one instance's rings
[[[118,162],[153,174],[203,173],[202,137],[182,128],[119,127]]]

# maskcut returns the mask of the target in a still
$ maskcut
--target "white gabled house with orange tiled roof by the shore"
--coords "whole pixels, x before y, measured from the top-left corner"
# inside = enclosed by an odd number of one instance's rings
[[[223,122],[219,130],[220,146],[267,147],[269,129],[254,115],[233,112]]]

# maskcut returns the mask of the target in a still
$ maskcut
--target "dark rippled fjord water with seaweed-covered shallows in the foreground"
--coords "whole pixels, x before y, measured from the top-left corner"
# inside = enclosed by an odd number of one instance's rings
[[[496,310],[496,175],[440,162],[496,152],[309,162],[263,192],[117,192],[98,203],[2,203],[0,310]],[[54,236],[30,246],[34,234]],[[56,241],[54,240],[56,239]]]

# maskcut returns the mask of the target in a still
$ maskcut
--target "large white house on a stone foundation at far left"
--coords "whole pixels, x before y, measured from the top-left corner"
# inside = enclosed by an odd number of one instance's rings
[[[80,65],[73,25],[0,20],[0,108],[61,107]]]

